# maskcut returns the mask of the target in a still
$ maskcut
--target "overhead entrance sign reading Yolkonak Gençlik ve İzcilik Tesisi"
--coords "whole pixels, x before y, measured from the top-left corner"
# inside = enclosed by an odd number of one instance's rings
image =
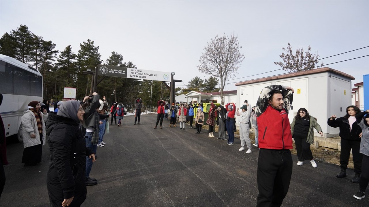
[[[154,81],[170,81],[170,73],[162,71],[142,70],[129,67],[98,65],[97,74],[122,78],[135,78]]]

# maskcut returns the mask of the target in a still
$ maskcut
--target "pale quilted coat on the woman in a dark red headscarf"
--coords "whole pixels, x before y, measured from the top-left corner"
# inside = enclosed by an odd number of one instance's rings
[[[42,114],[42,141],[46,144],[46,119],[49,116],[47,113]],[[23,148],[32,147],[41,144],[40,133],[38,133],[37,121],[34,113],[31,110],[27,110],[22,116],[22,129],[21,134],[23,136]],[[35,138],[31,138],[31,134],[35,134]]]

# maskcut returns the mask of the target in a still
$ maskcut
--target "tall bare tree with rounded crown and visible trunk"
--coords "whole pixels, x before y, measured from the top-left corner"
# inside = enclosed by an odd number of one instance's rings
[[[230,37],[215,36],[207,43],[204,52],[200,57],[200,65],[196,66],[199,71],[220,79],[221,104],[224,104],[223,90],[226,81],[234,77],[239,68],[239,64],[245,59],[244,54],[239,50],[237,36],[232,34]]]

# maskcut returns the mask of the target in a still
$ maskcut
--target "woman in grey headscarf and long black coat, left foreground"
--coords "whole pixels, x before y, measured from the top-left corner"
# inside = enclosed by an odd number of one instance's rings
[[[46,123],[50,147],[46,184],[53,207],[78,207],[86,200],[86,156],[95,161],[95,154],[86,148],[82,135],[84,113],[81,102],[66,101],[57,114],[50,113]]]

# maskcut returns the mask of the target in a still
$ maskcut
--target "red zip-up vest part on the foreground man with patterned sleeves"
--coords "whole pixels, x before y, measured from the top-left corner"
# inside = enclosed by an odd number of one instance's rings
[[[272,106],[258,117],[259,148],[283,150],[292,149],[292,134],[288,114]]]

